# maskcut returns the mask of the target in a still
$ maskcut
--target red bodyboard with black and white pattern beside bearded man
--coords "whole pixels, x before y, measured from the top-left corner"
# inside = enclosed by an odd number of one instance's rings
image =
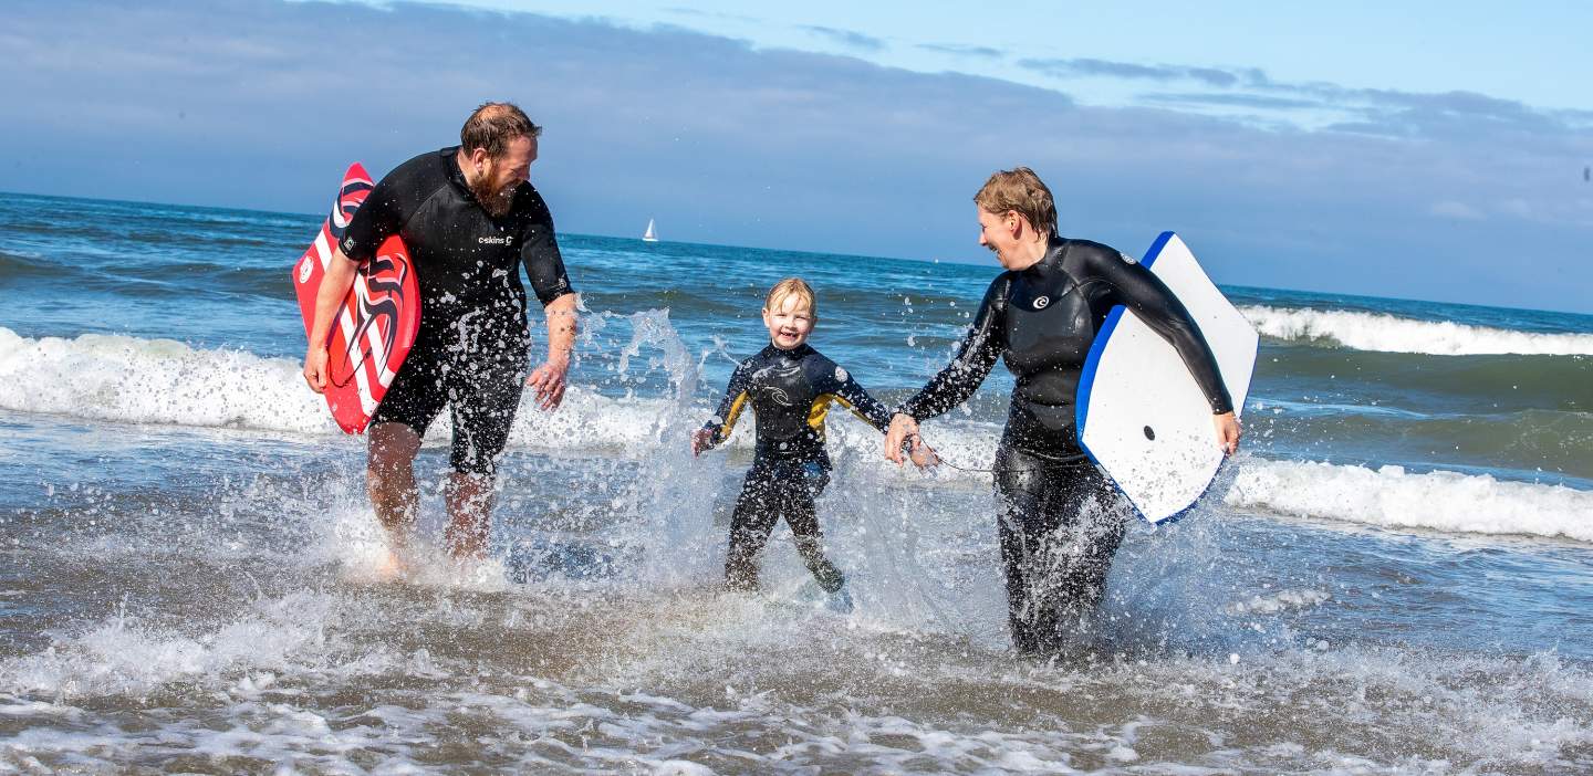
[[[293,266],[304,334],[315,324],[315,294],[327,277],[327,266],[338,250],[349,219],[371,194],[374,183],[358,162],[342,175],[342,188],[331,202],[331,215],[304,256]],[[421,288],[414,278],[409,250],[398,235],[382,242],[376,256],[360,266],[354,286],[331,320],[327,340],[327,405],[338,426],[349,434],[365,433],[371,413],[387,396],[421,329]]]

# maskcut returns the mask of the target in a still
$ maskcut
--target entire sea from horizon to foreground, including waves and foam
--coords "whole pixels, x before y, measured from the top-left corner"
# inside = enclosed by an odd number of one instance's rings
[[[994,261],[562,235],[578,363],[519,412],[494,558],[387,580],[363,439],[299,377],[320,219],[0,194],[0,773],[1593,771],[1593,316],[1223,286],[1244,448],[1037,663],[988,474],[832,413],[840,615],[785,528],[761,595],[718,590],[750,423],[687,448],[774,280],[889,404]],[[988,468],[1010,388],[926,437]]]

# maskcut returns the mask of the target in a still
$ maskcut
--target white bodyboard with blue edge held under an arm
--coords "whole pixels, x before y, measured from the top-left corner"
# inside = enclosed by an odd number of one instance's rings
[[[1142,264],[1172,289],[1217,356],[1235,412],[1244,410],[1260,337],[1172,232]],[[1206,493],[1223,453],[1211,404],[1168,340],[1115,307],[1078,380],[1078,445],[1150,523],[1176,520]]]

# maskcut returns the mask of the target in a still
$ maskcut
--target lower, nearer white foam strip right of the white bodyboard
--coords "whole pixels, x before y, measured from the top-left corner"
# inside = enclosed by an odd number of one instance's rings
[[[1388,528],[1593,542],[1593,491],[1400,466],[1244,461],[1228,506]]]

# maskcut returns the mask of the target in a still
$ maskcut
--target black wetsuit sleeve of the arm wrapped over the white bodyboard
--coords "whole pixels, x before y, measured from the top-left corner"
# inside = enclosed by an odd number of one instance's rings
[[[1212,413],[1233,412],[1233,399],[1222,383],[1222,372],[1217,371],[1217,356],[1212,355],[1195,318],[1184,308],[1184,302],[1172,296],[1166,283],[1144,264],[1125,261],[1123,254],[1109,248],[1090,251],[1090,264],[1093,275],[1112,288],[1114,302],[1134,310],[1139,320],[1179,351],[1184,366],[1206,394]]]

